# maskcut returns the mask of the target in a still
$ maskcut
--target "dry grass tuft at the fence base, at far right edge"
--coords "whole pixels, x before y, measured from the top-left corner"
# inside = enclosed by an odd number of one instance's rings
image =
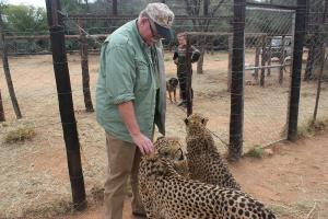
[[[297,137],[304,138],[314,136],[317,132],[324,131],[328,129],[328,118],[320,118],[316,122],[313,122],[312,119],[307,123],[300,125],[297,127]]]

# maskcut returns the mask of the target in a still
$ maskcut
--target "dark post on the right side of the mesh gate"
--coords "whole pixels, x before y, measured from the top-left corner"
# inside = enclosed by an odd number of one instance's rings
[[[295,141],[297,139],[298,104],[301,90],[301,72],[303,41],[305,35],[306,0],[297,0],[293,67],[291,80],[291,94],[288,115],[288,139]]]

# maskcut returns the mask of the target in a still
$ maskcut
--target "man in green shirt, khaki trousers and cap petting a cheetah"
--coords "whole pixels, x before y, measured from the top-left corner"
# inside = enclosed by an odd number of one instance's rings
[[[174,13],[150,3],[138,20],[116,30],[102,46],[96,117],[106,131],[108,177],[105,218],[121,219],[127,178],[132,214],[145,216],[138,191],[141,154],[153,151],[154,124],[165,134],[165,72],[161,38],[171,38]]]

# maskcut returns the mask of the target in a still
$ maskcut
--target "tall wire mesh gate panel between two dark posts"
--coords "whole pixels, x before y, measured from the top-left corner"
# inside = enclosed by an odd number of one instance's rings
[[[294,10],[246,8],[246,147],[286,138],[294,19]]]

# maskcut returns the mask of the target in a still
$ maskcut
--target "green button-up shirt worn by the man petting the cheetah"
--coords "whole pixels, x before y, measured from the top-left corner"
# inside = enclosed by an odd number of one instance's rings
[[[104,129],[118,139],[132,142],[118,112],[118,104],[132,101],[139,128],[149,138],[152,138],[154,122],[161,120],[155,117],[165,114],[165,104],[156,100],[161,77],[159,66],[154,66],[153,62],[157,64],[154,59],[154,54],[159,55],[155,47],[150,47],[143,42],[136,20],[115,31],[102,46],[96,88],[96,117]],[[161,107],[155,107],[156,103]],[[163,119],[156,125],[164,134]]]

